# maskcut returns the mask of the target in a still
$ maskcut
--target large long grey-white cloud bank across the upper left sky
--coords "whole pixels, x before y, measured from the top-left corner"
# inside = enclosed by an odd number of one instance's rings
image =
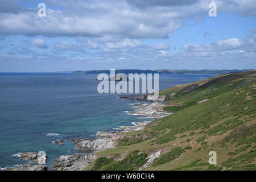
[[[103,3],[104,5],[104,3]],[[112,6],[110,6],[112,5]],[[172,15],[155,15],[143,12],[125,3],[109,3],[106,7],[79,10],[50,10],[46,17],[39,17],[37,10],[20,11],[18,14],[0,13],[0,34],[25,36],[84,36],[102,38],[167,38],[181,27]],[[166,17],[164,17],[166,16]]]

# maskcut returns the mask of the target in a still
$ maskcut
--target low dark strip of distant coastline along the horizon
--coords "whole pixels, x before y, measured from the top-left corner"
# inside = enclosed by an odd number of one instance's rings
[[[117,69],[115,73],[160,73],[160,74],[183,74],[183,75],[220,75],[225,73],[236,73],[236,72],[245,72],[251,71],[251,69],[202,69],[202,70],[186,70],[186,69]],[[92,71],[75,71],[72,74],[100,74],[107,73],[110,74],[110,70],[92,70]]]

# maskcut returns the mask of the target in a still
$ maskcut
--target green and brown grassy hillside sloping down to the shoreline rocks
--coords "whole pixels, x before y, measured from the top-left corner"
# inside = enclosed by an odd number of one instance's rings
[[[146,129],[120,134],[118,146],[98,153],[92,169],[256,170],[256,71],[229,73],[162,90],[165,110]],[[209,165],[209,151],[217,165]]]

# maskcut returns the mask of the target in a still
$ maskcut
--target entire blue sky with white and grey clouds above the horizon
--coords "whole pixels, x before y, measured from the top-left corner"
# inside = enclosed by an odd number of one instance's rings
[[[110,68],[256,69],[256,0],[0,0],[0,72]]]

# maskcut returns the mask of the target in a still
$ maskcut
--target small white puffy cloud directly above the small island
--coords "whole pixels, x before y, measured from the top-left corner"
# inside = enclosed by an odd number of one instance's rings
[[[108,42],[104,44],[104,47],[107,49],[138,48],[142,46],[142,42],[135,39],[124,39],[121,42]]]

